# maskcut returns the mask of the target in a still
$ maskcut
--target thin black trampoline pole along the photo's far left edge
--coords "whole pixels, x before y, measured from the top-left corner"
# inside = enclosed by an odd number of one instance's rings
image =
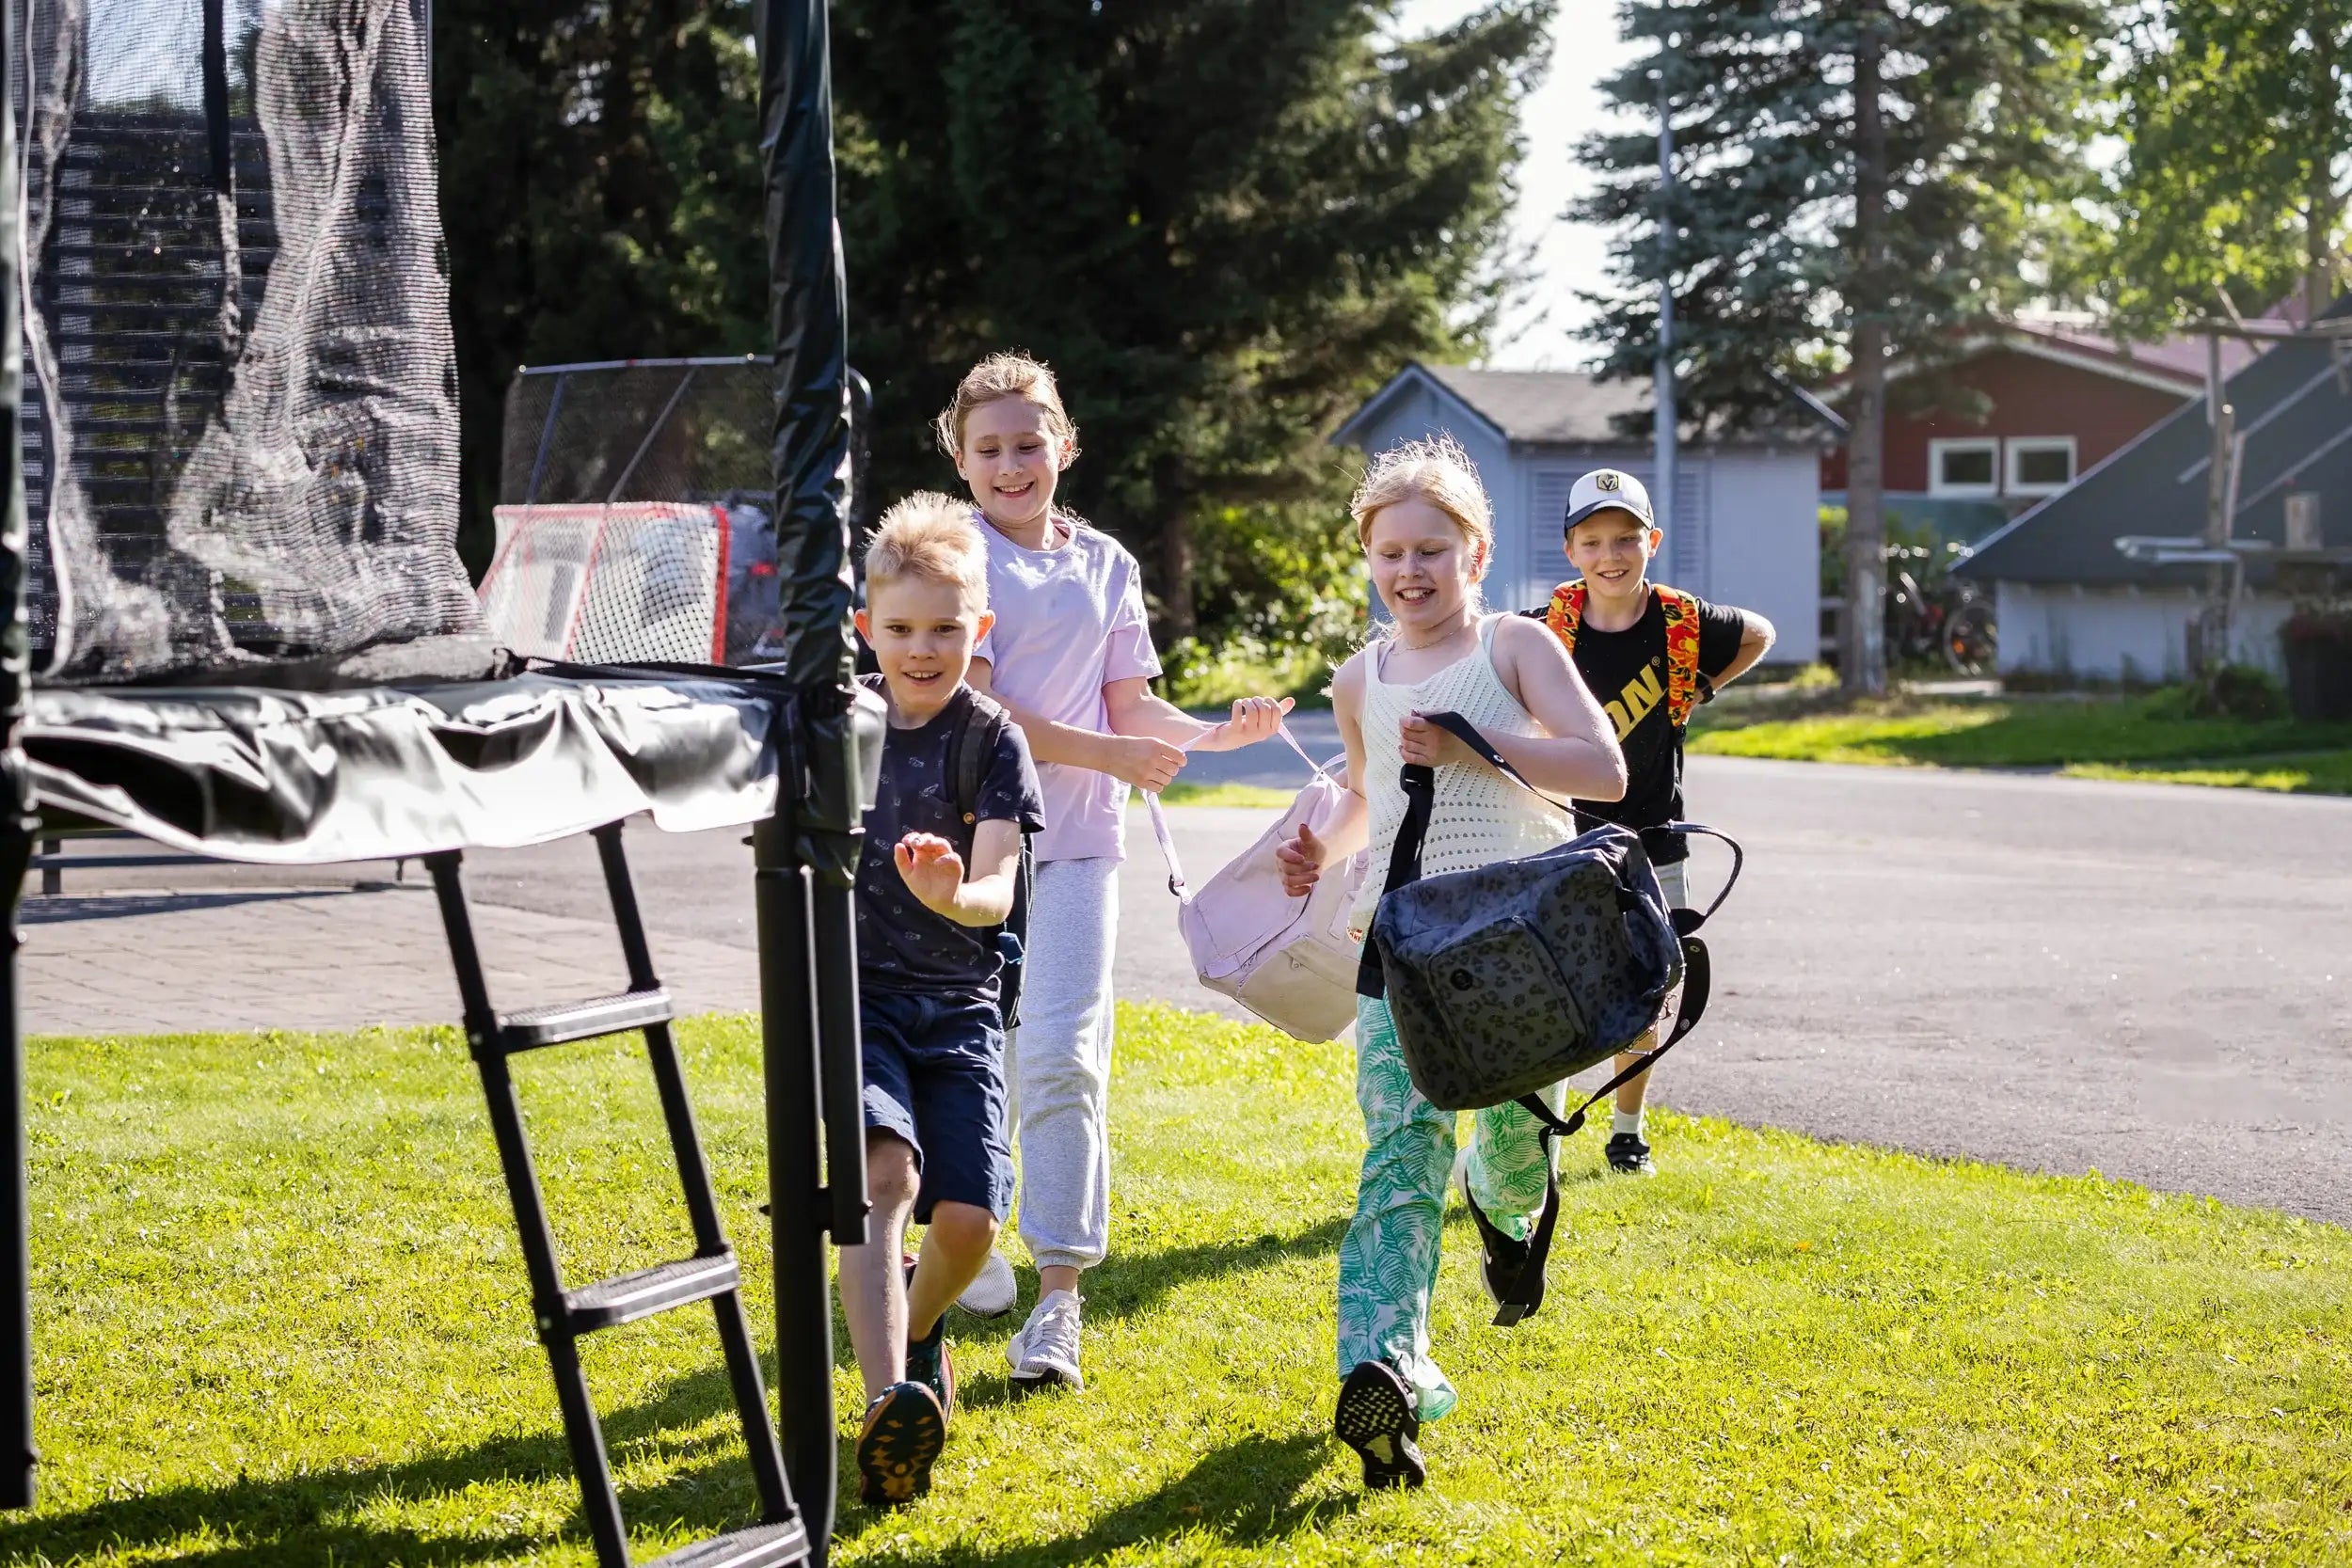
[[[16,7],[0,7],[0,1509],[33,1507],[33,1248],[24,1171],[24,1016],[16,1001],[16,905],[33,858],[33,783],[16,726],[33,654],[24,621],[24,324],[16,275]]]

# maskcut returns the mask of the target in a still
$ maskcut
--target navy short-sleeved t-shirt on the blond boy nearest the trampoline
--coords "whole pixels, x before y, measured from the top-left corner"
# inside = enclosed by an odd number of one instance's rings
[[[964,823],[957,813],[955,780],[948,778],[948,743],[969,708],[971,689],[964,686],[929,724],[891,726],[882,736],[882,790],[866,813],[866,851],[858,858],[858,985],[983,1001],[997,994],[1004,957],[997,952],[995,929],[964,926],[927,907],[898,877],[891,858],[906,835],[936,832],[955,844],[969,879],[978,823]],[[1028,832],[1044,827],[1037,764],[1011,724],[981,771],[974,816],[981,823],[1021,823]]]

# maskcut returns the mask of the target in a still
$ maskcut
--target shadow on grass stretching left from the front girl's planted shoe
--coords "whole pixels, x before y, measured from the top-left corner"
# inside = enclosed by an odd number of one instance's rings
[[[903,1556],[908,1563],[955,1563],[957,1568],[1073,1568],[1096,1563],[1127,1547],[1202,1535],[1218,1547],[1256,1547],[1296,1535],[1315,1519],[1352,1514],[1357,1497],[1301,1497],[1301,1488],[1324,1467],[1331,1439],[1319,1432],[1296,1436],[1244,1436],[1237,1443],[1202,1455],[1160,1490],[1124,1502],[1077,1535],[1023,1542],[1002,1552],[941,1547],[934,1556]],[[851,1476],[856,1472],[849,1472]],[[847,1488],[854,1495],[854,1483]],[[856,1540],[863,1530],[894,1530],[891,1514],[851,1505],[844,1509],[835,1540]]]

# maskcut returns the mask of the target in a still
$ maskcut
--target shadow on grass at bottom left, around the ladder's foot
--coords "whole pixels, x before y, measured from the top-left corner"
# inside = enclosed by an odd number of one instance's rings
[[[428,1453],[395,1465],[320,1469],[310,1474],[254,1479],[223,1486],[174,1486],[136,1497],[108,1497],[85,1509],[0,1523],[0,1561],[52,1563],[75,1556],[132,1556],[172,1547],[186,1537],[205,1544],[181,1549],[176,1563],[205,1568],[393,1568],[395,1563],[480,1563],[522,1556],[555,1544],[539,1530],[485,1528],[477,1535],[423,1535],[405,1526],[367,1523],[402,1505],[461,1497],[496,1481],[560,1481],[569,1505],[562,1540],[586,1540],[579,1523],[579,1483],[562,1432],[553,1425],[553,1387],[543,1432],[496,1436],[473,1448]],[[727,1415],[708,1432],[710,1418]],[[616,1465],[652,1443],[675,1469],[656,1486],[623,1488],[621,1514],[637,1528],[682,1526],[694,1535],[717,1535],[753,1521],[757,1502],[743,1460],[734,1399],[717,1368],[675,1380],[659,1396],[604,1418],[604,1439]],[[482,1505],[487,1512],[492,1505]]]

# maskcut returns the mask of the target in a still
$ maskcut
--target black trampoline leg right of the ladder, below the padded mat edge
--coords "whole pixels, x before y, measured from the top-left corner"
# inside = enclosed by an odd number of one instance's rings
[[[833,1269],[818,1164],[814,875],[793,863],[788,818],[767,818],[753,827],[750,842],[776,1260],[776,1432],[793,1500],[809,1528],[809,1561],[823,1563],[833,1549],[840,1476],[833,1441]]]

